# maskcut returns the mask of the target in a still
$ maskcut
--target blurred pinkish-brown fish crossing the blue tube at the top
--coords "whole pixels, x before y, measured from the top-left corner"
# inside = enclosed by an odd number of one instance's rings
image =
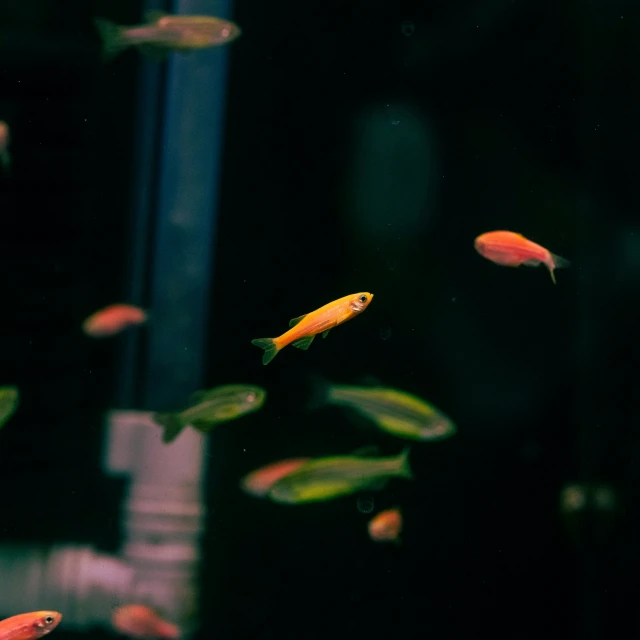
[[[222,18],[169,15],[162,11],[149,12],[147,23],[141,25],[119,26],[103,18],[97,18],[95,23],[103,39],[105,59],[131,46],[163,58],[170,51],[185,53],[228,44],[242,33],[238,25]]]

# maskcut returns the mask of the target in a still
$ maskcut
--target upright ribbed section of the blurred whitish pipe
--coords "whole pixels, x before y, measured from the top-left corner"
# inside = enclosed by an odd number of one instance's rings
[[[206,438],[185,429],[164,444],[150,413],[114,411],[109,424],[106,469],[131,477],[122,549],[135,573],[131,602],[183,626],[197,610]]]

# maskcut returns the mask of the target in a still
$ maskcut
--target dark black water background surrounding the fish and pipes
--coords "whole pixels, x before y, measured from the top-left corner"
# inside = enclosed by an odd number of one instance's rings
[[[133,24],[139,5],[0,8],[0,382],[22,392],[0,542],[119,545],[123,484],[99,463],[118,339],[79,325],[126,295],[137,135],[140,56],[102,65],[92,19]],[[639,19],[618,0],[235,4],[205,386],[269,400],[211,436],[202,637],[638,632]],[[553,286],[480,258],[475,236],[503,228],[572,268]],[[252,338],[361,290],[363,316],[262,367]],[[375,495],[404,510],[401,548],[368,540],[355,496],[239,491],[274,459],[403,446],[305,413],[312,373],[376,376],[458,424]],[[569,530],[559,493],[586,481],[620,507]]]

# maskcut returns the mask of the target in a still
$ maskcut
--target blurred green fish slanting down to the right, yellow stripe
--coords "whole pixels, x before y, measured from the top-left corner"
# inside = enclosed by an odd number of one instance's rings
[[[439,409],[405,391],[382,386],[321,385],[324,403],[349,407],[399,438],[441,440],[457,431]]]

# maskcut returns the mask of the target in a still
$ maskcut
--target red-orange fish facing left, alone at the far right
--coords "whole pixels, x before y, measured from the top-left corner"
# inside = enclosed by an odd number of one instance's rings
[[[476,238],[475,248],[481,256],[505,267],[519,267],[521,264],[526,267],[537,267],[540,263],[545,264],[553,284],[556,283],[554,269],[570,266],[568,260],[554,255],[539,244],[513,231],[483,233]]]

